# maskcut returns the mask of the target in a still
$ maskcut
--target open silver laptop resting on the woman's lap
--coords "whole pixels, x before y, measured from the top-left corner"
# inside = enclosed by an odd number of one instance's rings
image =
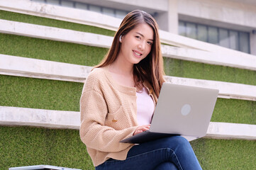
[[[140,144],[172,135],[187,140],[204,137],[218,97],[218,89],[164,83],[150,130],[121,142]]]

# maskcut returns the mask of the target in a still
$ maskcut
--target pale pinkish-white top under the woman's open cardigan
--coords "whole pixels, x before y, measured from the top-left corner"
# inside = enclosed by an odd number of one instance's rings
[[[148,125],[151,123],[152,115],[154,113],[154,101],[149,96],[147,89],[136,92],[137,95],[137,120],[138,125]]]

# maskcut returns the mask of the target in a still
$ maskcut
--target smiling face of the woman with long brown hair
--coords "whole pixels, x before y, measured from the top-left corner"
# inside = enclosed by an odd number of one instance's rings
[[[121,38],[118,57],[130,64],[138,64],[150,53],[154,32],[147,23],[140,23]]]

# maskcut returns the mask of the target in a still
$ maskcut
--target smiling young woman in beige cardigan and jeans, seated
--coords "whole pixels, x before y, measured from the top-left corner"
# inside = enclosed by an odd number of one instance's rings
[[[144,11],[123,19],[108,54],[84,84],[80,137],[96,169],[201,169],[180,136],[120,141],[150,128],[164,80],[157,23]]]

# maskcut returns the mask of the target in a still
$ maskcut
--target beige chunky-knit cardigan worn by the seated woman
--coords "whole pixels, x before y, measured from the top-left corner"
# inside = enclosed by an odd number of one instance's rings
[[[109,158],[125,160],[133,145],[119,141],[132,136],[138,127],[136,89],[115,82],[108,67],[96,68],[84,83],[80,111],[80,137],[94,166]]]

